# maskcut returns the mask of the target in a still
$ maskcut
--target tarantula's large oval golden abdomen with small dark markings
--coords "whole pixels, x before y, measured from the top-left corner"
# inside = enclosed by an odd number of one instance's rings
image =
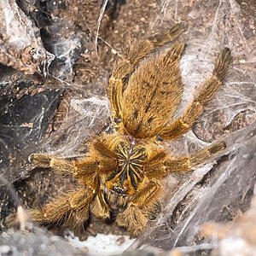
[[[125,130],[137,138],[154,137],[176,112],[182,94],[177,61],[160,57],[143,63],[137,73],[131,75],[124,92]]]

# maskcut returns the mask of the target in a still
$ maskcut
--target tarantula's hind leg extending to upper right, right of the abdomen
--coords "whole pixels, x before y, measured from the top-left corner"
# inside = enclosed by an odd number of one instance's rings
[[[162,131],[160,131],[160,137],[172,140],[189,131],[189,129],[194,125],[196,119],[198,119],[201,113],[203,113],[207,102],[212,100],[214,94],[223,84],[228,73],[230,60],[230,49],[225,48],[218,57],[212,76],[202,85],[202,88],[198,95],[195,96],[194,101],[189,104],[189,107],[185,110],[183,116],[174,120],[172,124],[167,125]]]

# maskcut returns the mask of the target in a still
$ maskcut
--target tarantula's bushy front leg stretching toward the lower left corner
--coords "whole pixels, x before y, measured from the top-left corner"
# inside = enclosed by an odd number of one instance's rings
[[[66,224],[74,227],[89,218],[89,205],[95,195],[94,189],[79,189],[61,195],[42,208],[30,209],[29,214],[38,224]]]

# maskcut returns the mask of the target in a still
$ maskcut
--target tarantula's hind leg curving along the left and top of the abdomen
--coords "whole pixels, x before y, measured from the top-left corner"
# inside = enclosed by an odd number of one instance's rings
[[[117,125],[122,119],[122,98],[126,86],[125,80],[133,73],[145,56],[154,52],[156,47],[172,42],[184,29],[183,24],[177,24],[166,32],[139,42],[131,48],[127,57],[120,60],[114,67],[112,76],[109,79],[108,96],[111,102],[113,120]]]

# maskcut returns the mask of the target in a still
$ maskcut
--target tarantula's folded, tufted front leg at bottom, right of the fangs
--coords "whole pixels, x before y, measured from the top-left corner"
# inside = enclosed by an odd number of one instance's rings
[[[124,212],[119,213],[116,223],[131,233],[138,236],[145,229],[148,217],[154,211],[154,207],[160,199],[160,185],[154,182],[148,183],[134,195]]]

